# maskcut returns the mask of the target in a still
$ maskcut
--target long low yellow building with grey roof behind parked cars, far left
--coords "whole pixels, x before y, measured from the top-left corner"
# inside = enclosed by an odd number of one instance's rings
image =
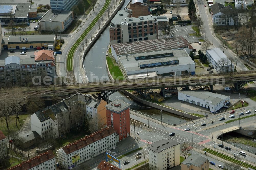
[[[46,48],[51,46],[53,48],[55,47],[55,43],[55,35],[23,35],[22,37],[18,35],[10,35],[7,38],[3,38],[2,48],[4,50],[21,49],[22,47],[33,49],[42,46]]]

